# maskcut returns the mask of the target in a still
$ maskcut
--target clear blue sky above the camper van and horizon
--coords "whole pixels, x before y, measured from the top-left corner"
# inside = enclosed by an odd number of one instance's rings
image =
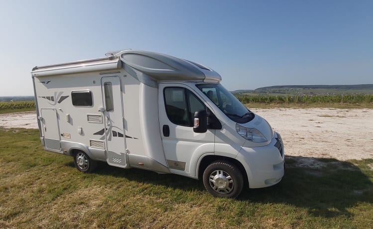
[[[373,84],[373,0],[0,0],[0,96],[34,66],[122,49],[197,62],[228,90]]]

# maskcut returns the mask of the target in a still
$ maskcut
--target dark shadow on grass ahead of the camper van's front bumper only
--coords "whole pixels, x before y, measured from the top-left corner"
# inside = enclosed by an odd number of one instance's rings
[[[326,218],[349,217],[349,208],[373,203],[372,162],[287,156],[285,176],[279,184],[251,189],[239,199],[307,208],[310,214]]]

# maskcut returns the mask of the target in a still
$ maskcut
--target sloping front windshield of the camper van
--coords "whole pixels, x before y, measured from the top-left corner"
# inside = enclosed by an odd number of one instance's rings
[[[254,114],[221,84],[198,84],[196,86],[233,121],[246,123],[254,118]]]

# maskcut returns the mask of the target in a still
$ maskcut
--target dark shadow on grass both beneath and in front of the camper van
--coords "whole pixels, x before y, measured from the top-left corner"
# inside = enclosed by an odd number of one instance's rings
[[[362,202],[373,203],[373,170],[369,166],[372,163],[373,159],[347,162],[287,156],[285,176],[279,184],[261,189],[244,188],[237,201],[292,205],[306,208],[316,217],[349,217],[350,207]],[[73,167],[74,163],[68,165]],[[105,163],[100,163],[94,173],[185,192],[207,192],[201,181],[175,174],[121,169]]]

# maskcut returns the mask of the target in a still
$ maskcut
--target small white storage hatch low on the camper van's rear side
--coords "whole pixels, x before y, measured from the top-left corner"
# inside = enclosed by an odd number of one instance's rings
[[[42,108],[41,116],[45,147],[52,150],[61,150],[57,111],[53,108]]]

